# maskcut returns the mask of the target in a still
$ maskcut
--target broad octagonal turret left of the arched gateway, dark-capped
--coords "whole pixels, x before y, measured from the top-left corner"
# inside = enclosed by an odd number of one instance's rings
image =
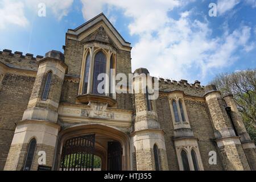
[[[45,58],[38,61],[38,73],[30,101],[27,110],[24,111],[22,121],[16,122],[5,170],[23,170],[28,144],[33,138],[36,139],[36,148],[31,170],[38,169],[39,151],[46,152],[46,164],[44,165],[52,167],[57,134],[60,130],[60,126],[57,125],[57,110],[67,68],[64,55],[59,51],[50,51],[46,53]],[[42,100],[49,72],[52,72],[52,77],[48,97]]]

